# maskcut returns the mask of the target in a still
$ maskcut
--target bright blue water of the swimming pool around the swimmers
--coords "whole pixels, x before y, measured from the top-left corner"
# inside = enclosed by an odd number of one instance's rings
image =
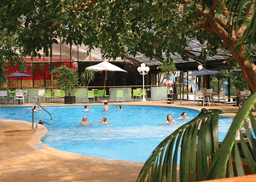
[[[70,151],[88,156],[119,159],[133,162],[145,162],[154,148],[189,119],[196,117],[199,111],[178,107],[123,105],[122,111],[117,105],[110,105],[109,111],[102,111],[102,105],[90,105],[90,112],[84,112],[84,106],[48,106],[53,116],[52,125],[42,141],[61,151]],[[31,107],[0,108],[1,119],[32,121]],[[179,120],[185,111],[189,119]],[[165,125],[167,114],[178,122]],[[90,126],[80,125],[82,117],[88,117]],[[98,124],[107,117],[109,125]],[[35,113],[35,121],[49,121],[44,111]],[[230,127],[231,117],[220,117],[219,140]]]

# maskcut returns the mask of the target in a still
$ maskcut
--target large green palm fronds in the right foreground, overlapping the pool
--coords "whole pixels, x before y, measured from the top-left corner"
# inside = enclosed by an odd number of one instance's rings
[[[251,112],[255,104],[256,93],[250,96],[237,112],[221,145],[218,144],[218,116],[224,112],[201,111],[198,117],[177,128],[154,149],[139,173],[137,181],[148,179],[148,181],[175,182],[178,168],[179,179],[183,182],[220,179],[225,178],[226,174],[233,177],[235,172],[244,175],[245,167],[242,166],[241,160],[247,162],[251,173],[256,173],[256,141],[245,122],[247,117],[251,118],[253,132],[256,134],[256,122]],[[246,128],[247,143],[240,130],[243,124]],[[199,132],[198,128],[200,128]],[[237,132],[240,132],[241,144],[236,141]],[[241,150],[238,150],[238,145]],[[232,162],[235,162],[235,165]],[[227,166],[230,168],[226,168]]]

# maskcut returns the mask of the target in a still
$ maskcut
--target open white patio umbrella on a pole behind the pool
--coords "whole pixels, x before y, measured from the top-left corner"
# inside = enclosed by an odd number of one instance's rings
[[[86,67],[85,70],[92,70],[92,71],[105,71],[105,80],[104,80],[104,91],[103,91],[103,97],[105,95],[105,88],[106,88],[106,80],[107,80],[107,71],[123,71],[127,72],[121,68],[119,68],[116,65],[113,65],[109,63],[108,61],[103,61],[96,65],[91,65],[89,67]]]

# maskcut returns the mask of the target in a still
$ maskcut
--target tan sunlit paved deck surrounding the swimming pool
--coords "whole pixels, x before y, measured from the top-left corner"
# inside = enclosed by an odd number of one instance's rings
[[[63,104],[43,103],[42,105]],[[148,101],[109,103],[109,105],[167,104],[166,101]],[[26,104],[26,106],[32,106],[32,104]],[[182,101],[182,103],[177,101],[168,106],[182,106],[199,111],[202,108],[194,106],[193,102],[188,101]],[[234,106],[220,105],[205,106],[205,108],[225,111],[238,110]],[[254,112],[253,115],[256,113]],[[234,116],[234,114],[230,114],[230,116]],[[104,159],[53,149],[40,141],[47,133],[47,129],[42,125],[38,129],[32,129],[31,122],[0,120],[0,126],[0,181],[136,181],[137,175],[143,167],[143,162]],[[255,178],[255,175],[249,175],[236,179],[255,181]],[[240,180],[229,179],[229,181]]]

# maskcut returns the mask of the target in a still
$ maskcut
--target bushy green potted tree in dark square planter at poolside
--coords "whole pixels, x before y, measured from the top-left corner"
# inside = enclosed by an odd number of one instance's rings
[[[76,71],[71,68],[67,68],[65,65],[55,68],[52,74],[57,76],[57,84],[59,88],[65,91],[64,103],[75,103],[75,96],[71,96],[71,91],[79,82],[79,76]]]

